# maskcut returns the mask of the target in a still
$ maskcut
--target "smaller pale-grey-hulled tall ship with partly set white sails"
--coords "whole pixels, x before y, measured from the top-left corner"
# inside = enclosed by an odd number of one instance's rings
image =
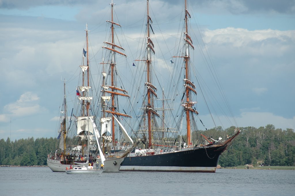
[[[113,4],[111,5],[113,7]],[[112,21],[109,22],[113,24]],[[109,112],[111,117],[104,115],[101,118],[99,117],[101,111],[97,107],[97,101],[94,101],[96,96],[91,86],[93,79],[89,66],[89,30],[87,29],[87,24],[85,31],[86,50],[83,48],[82,65],[79,66],[81,68],[81,77],[79,77],[80,85],[76,87],[77,101],[74,103],[70,120],[68,120],[66,93],[64,93],[63,107],[58,126],[58,143],[55,150],[48,154],[47,165],[53,172],[65,172],[65,170],[70,168],[86,166],[94,167],[94,169],[103,169],[104,172],[119,172],[122,161],[137,142],[133,143],[127,131],[115,117],[119,113],[115,113],[114,110],[110,109],[104,112]],[[114,47],[107,49],[113,51]],[[111,63],[111,65],[114,66],[114,63]],[[103,73],[103,76],[105,77],[106,74]],[[106,89],[106,85],[102,85],[102,87]],[[116,94],[117,89],[114,88],[113,83],[108,88],[111,90],[105,91],[104,93]],[[106,102],[107,100],[114,101],[114,96],[109,97],[105,95],[102,96],[102,100]],[[130,143],[124,149],[114,153],[111,153],[111,151],[108,153],[107,151],[114,147],[117,142],[115,139],[109,142],[109,138],[112,138],[112,136],[107,136],[106,134],[106,132],[111,132],[111,120],[113,127],[116,121],[119,124],[118,127],[124,130],[123,135]]]

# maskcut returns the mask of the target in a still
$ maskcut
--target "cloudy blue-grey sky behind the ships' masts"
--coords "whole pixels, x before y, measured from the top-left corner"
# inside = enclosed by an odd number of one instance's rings
[[[127,61],[132,65],[146,1],[113,1],[122,32],[135,40],[125,48],[130,49]],[[74,95],[86,23],[91,49],[98,54],[96,61],[101,61],[109,3],[111,0],[0,1],[0,139],[55,137],[63,96],[61,79],[69,87],[73,84],[67,93]],[[183,20],[183,1],[150,0],[150,7],[157,44],[165,53],[175,45],[171,40]],[[238,126],[272,124],[278,129],[295,129],[295,0],[191,0],[188,10]],[[196,58],[197,53],[194,50]],[[163,59],[169,63],[173,54],[166,56]]]

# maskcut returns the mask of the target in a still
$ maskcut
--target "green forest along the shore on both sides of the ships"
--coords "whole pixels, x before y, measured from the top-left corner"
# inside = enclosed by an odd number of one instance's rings
[[[208,137],[225,138],[231,135],[235,127],[194,131]],[[265,127],[241,127],[237,138],[220,156],[221,167],[233,167],[245,164],[270,166],[295,166],[295,132],[293,129],[276,129],[273,125]],[[57,138],[0,140],[0,165],[44,166],[47,154],[56,146]]]

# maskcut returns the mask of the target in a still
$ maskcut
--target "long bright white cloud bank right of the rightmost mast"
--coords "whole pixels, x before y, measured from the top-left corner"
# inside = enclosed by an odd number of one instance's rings
[[[249,31],[242,28],[227,27],[216,30],[207,29],[204,35],[204,39],[209,45],[217,45],[217,49],[223,45],[232,46],[235,50],[231,52],[239,56],[250,54],[280,57],[294,48],[295,42],[294,30],[265,29]],[[239,50],[236,50],[237,48]],[[223,52],[219,54],[224,55]]]

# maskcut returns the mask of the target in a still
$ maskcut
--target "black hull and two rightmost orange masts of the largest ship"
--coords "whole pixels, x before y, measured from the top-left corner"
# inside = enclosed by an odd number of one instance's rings
[[[136,135],[142,137],[142,143],[124,159],[120,171],[215,172],[219,156],[237,137],[240,130],[238,127],[233,128],[232,134],[218,139],[205,136],[204,133],[197,130],[196,120],[199,112],[196,110],[195,104],[197,102],[194,100],[197,94],[197,86],[193,81],[196,77],[193,76],[194,65],[191,64],[190,56],[190,51],[194,50],[194,45],[189,32],[191,15],[187,9],[187,2],[184,1],[184,23],[180,53],[172,57],[181,59],[179,62],[182,73],[178,72],[180,75],[175,78],[183,76],[180,82],[182,83],[182,90],[178,91],[182,95],[179,104],[181,109],[178,109],[177,116],[171,117],[176,121],[174,129],[169,128],[165,122],[163,100],[166,100],[166,98],[163,90],[162,116],[158,113],[160,108],[157,108],[155,103],[159,100],[157,90],[160,89],[155,85],[155,78],[157,77],[152,63],[156,52],[155,43],[157,42],[153,42],[155,33],[149,12],[149,0],[147,0],[146,7],[145,55],[136,60],[143,63],[146,73],[144,84],[142,84],[145,88],[142,95],[142,113],[138,115],[140,123],[136,129]],[[171,60],[172,63],[174,62]],[[172,90],[172,88],[169,90]],[[173,105],[167,100],[165,103],[168,104],[168,107]],[[171,103],[170,106],[169,103]],[[176,120],[177,117],[179,117],[178,120]],[[169,119],[167,120],[169,121]],[[186,132],[184,136],[179,134],[183,130]],[[198,134],[200,138],[192,139],[192,134]]]

